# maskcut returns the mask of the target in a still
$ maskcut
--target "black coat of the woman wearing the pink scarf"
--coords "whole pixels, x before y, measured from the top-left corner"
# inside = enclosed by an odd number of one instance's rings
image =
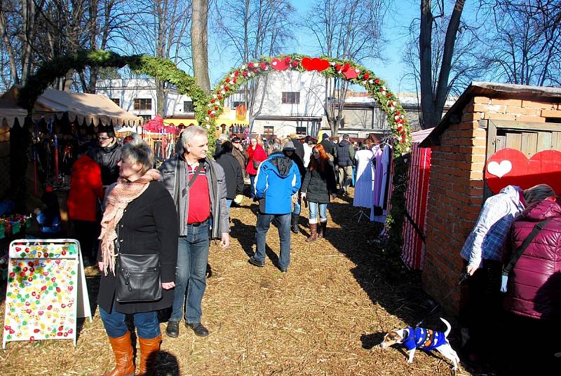
[[[117,225],[119,252],[133,254],[160,253],[162,282],[175,281],[177,266],[177,213],[168,190],[158,181],[151,181],[142,195],[130,202]],[[97,260],[102,258],[101,252]],[[117,312],[132,314],[170,307],[173,289],[163,290],[156,302],[114,302],[116,278],[110,271],[100,280],[97,304],[107,312],[111,305]]]

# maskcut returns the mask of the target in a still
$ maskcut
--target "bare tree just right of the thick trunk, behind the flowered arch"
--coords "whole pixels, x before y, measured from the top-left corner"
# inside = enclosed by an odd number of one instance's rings
[[[224,0],[216,5],[215,36],[238,64],[278,55],[292,40],[293,12],[288,0]],[[267,76],[254,78],[243,88],[250,127],[262,111],[267,81]]]

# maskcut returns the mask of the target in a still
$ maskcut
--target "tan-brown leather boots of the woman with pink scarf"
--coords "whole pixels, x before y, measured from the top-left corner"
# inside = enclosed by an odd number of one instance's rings
[[[138,376],[154,376],[156,375],[156,356],[160,351],[162,336],[145,340],[138,337],[140,342],[140,365],[138,367]],[[135,362],[133,359],[133,344],[130,342],[130,332],[122,337],[109,337],[109,343],[115,354],[115,368],[111,372],[105,373],[103,376],[135,376]]]

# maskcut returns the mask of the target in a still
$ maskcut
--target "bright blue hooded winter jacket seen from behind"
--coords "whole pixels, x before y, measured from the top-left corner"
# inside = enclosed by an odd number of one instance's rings
[[[300,189],[300,173],[295,162],[280,151],[269,155],[257,169],[255,195],[263,214],[292,212],[292,195]]]

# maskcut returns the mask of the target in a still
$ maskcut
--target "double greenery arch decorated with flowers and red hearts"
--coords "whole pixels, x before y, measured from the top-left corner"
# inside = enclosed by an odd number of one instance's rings
[[[398,98],[374,73],[350,60],[332,57],[309,57],[292,54],[278,57],[261,57],[247,62],[241,67],[231,69],[216,87],[206,95],[196,85],[196,81],[168,59],[147,55],[121,56],[102,50],[82,50],[58,57],[44,63],[20,92],[20,106],[31,111],[36,99],[56,78],[65,76],[72,69],[83,71],[86,67],[115,67],[128,65],[137,74],[167,81],[177,88],[182,95],[188,95],[194,102],[198,123],[209,130],[209,143],[214,146],[216,136],[216,118],[224,111],[226,99],[252,78],[280,71],[317,71],[327,78],[341,78],[353,84],[363,86],[386,113],[388,126],[393,135],[393,193],[391,211],[386,225],[390,239],[388,250],[398,254],[402,244],[402,226],[405,218],[405,188],[407,188],[407,154],[412,144],[410,127],[405,112]]]

